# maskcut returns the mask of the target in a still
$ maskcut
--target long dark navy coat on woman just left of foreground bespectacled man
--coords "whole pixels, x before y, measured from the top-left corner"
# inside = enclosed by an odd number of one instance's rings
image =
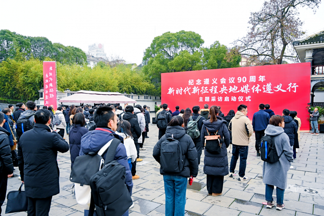
[[[73,125],[69,131],[70,155],[71,155],[71,169],[75,158],[79,156],[81,149],[81,138],[88,133],[89,130],[81,125]]]

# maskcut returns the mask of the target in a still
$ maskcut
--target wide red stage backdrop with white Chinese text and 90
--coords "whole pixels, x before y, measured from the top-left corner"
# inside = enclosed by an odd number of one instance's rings
[[[236,67],[161,74],[162,104],[171,111],[198,105],[217,105],[226,115],[237,106],[248,106],[248,117],[259,104],[270,104],[275,114],[297,111],[301,130],[309,129],[305,107],[310,101],[310,63]]]

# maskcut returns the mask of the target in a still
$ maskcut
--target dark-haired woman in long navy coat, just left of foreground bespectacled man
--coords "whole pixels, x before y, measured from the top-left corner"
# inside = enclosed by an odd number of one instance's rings
[[[70,143],[70,155],[71,155],[71,168],[75,161],[75,158],[79,156],[81,148],[81,138],[89,130],[84,127],[85,124],[84,114],[77,113],[73,117],[73,124],[69,132],[69,143]]]

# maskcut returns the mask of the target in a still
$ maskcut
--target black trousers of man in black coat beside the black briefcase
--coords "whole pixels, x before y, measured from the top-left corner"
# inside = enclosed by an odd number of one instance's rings
[[[51,208],[52,196],[47,198],[30,198],[27,197],[28,216],[48,216],[48,212]]]

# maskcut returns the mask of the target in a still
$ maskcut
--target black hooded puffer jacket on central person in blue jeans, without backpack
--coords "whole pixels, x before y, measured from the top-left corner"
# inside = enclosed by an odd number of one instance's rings
[[[153,149],[154,159],[160,163],[161,155],[161,143],[169,137],[172,137],[179,140],[180,146],[182,148],[182,154],[185,156],[183,170],[181,173],[165,173],[160,167],[161,175],[178,175],[189,178],[191,175],[196,177],[198,174],[198,158],[197,150],[195,144],[193,143],[191,137],[186,134],[185,130],[181,126],[168,126],[165,132],[165,135],[157,141]]]

